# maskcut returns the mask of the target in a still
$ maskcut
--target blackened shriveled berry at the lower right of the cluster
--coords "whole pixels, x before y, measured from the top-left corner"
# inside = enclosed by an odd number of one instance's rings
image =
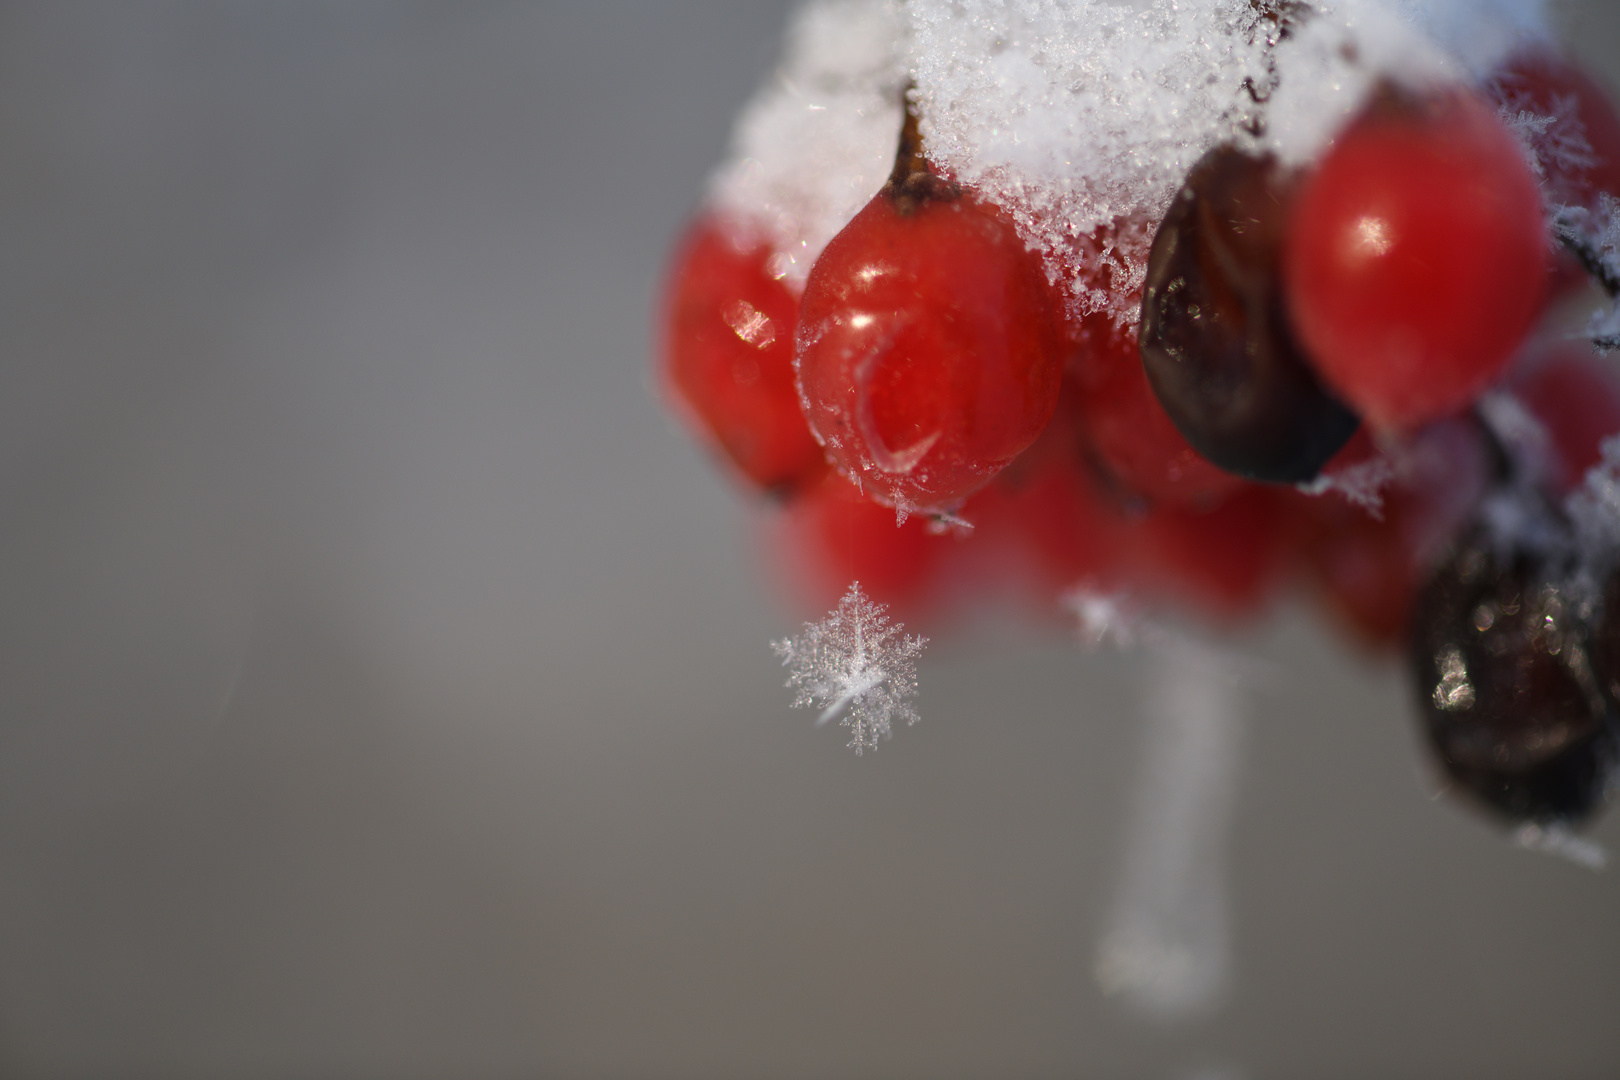
[[[1482,529],[1413,607],[1411,664],[1447,776],[1511,821],[1575,823],[1601,806],[1617,721],[1568,591]]]

